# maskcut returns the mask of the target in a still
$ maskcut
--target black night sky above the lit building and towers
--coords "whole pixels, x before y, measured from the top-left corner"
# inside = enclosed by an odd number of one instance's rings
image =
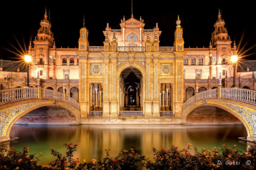
[[[168,3],[169,2],[169,3]],[[248,3],[250,2],[250,3]],[[158,22],[162,34],[160,46],[173,46],[177,16],[181,19],[185,48],[209,47],[218,9],[226,22],[228,35],[236,40],[239,50],[248,50],[245,59],[256,59],[256,10],[253,1],[138,1],[133,0],[133,16],[140,16],[145,29],[153,29]],[[34,40],[45,8],[50,10],[51,31],[57,48],[78,48],[79,30],[89,30],[89,44],[103,46],[107,22],[111,29],[120,29],[120,20],[131,18],[131,1],[2,1],[0,0],[0,58],[19,60],[15,49],[28,49]],[[49,20],[49,15],[48,15]],[[17,39],[17,40],[16,40]],[[12,47],[12,45],[14,47]],[[233,43],[232,43],[233,45]],[[244,47],[245,46],[245,47]],[[242,47],[244,47],[242,49]]]

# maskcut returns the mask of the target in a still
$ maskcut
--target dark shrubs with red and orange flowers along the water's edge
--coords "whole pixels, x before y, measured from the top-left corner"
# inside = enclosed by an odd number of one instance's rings
[[[156,150],[152,148],[154,160],[149,160],[144,155],[138,155],[135,150],[123,150],[118,156],[112,158],[110,150],[106,150],[106,157],[103,160],[80,160],[73,158],[77,144],[65,144],[66,155],[60,154],[51,148],[51,154],[56,157],[48,166],[38,164],[39,156],[28,154],[29,148],[23,151],[16,151],[15,148],[7,150],[6,146],[0,148],[0,169],[74,169],[74,170],[110,170],[110,169],[254,169],[256,167],[256,145],[250,146],[248,150],[239,151],[223,145],[221,148],[214,147],[211,150],[203,148],[197,150],[188,144],[185,149],[178,150],[178,147],[171,145],[169,150]],[[192,154],[194,153],[194,154]]]

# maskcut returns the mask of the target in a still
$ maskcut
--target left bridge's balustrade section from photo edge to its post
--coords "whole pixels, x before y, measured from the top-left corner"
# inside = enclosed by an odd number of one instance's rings
[[[20,100],[37,99],[38,88],[14,88],[0,91],[0,105]]]

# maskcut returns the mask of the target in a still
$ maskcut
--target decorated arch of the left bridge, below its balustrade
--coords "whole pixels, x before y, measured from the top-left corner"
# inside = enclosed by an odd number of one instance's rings
[[[80,111],[71,104],[59,101],[56,102],[55,100],[23,100],[20,102],[5,104],[4,107],[0,109],[0,139],[8,140],[12,126],[25,114],[47,105],[57,105],[67,109],[74,114],[76,122],[80,123]]]

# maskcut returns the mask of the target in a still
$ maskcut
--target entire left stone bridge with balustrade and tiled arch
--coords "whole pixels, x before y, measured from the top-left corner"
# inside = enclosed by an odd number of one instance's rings
[[[58,105],[74,114],[80,123],[80,105],[65,93],[39,88],[15,88],[0,91],[0,140],[10,139],[14,123],[26,113],[46,106]]]

